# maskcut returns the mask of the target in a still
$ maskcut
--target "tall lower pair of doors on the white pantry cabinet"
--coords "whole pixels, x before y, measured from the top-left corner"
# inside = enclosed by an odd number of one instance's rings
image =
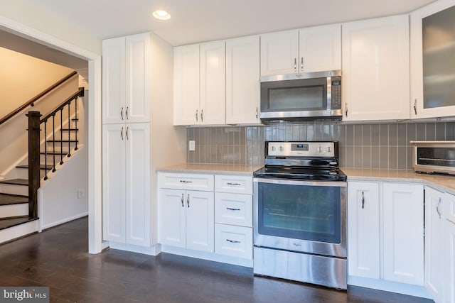
[[[103,147],[103,239],[149,246],[149,123],[105,124]]]

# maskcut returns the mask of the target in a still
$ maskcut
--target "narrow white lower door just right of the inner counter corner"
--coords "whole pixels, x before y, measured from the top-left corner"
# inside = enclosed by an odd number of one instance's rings
[[[444,285],[443,230],[441,204],[444,194],[425,187],[425,287],[434,302],[442,302]]]

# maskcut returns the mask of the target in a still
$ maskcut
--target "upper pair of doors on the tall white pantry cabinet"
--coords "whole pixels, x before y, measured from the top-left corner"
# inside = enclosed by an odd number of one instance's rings
[[[150,35],[102,42],[103,123],[150,121]]]

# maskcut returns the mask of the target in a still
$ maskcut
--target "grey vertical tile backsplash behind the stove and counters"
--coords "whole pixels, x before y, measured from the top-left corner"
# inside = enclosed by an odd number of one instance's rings
[[[187,137],[196,141],[196,150],[188,151],[188,162],[261,165],[264,141],[338,141],[341,167],[410,170],[410,141],[455,140],[455,122],[280,122],[188,128]]]

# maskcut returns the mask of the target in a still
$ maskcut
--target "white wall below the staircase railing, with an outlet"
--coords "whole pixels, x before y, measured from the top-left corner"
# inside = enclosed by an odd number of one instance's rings
[[[38,216],[40,229],[87,216],[88,214],[88,173],[87,148],[80,148],[71,155],[68,162],[50,175],[50,179],[41,182],[38,189]],[[82,167],[82,168],[81,168]],[[77,191],[82,197],[77,196]]]

